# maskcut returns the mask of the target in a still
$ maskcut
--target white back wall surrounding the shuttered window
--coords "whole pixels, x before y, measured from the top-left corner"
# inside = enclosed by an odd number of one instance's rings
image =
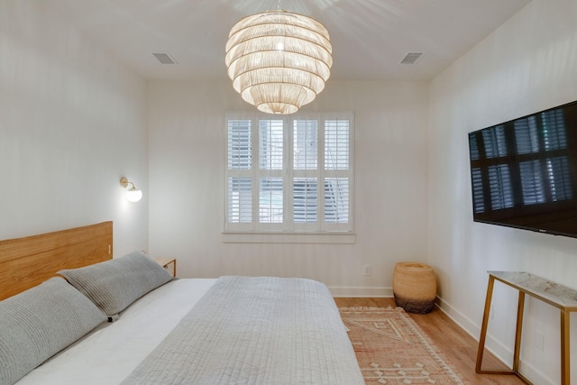
[[[181,277],[308,277],[335,294],[390,295],[396,261],[426,260],[426,83],[329,80],[307,109],[355,114],[355,244],[223,243],[229,82],[152,82],[151,254]],[[362,275],[362,265],[372,275]]]

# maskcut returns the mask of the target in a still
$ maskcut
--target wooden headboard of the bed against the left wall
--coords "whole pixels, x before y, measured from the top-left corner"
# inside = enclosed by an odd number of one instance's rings
[[[0,300],[62,269],[112,259],[112,222],[0,241]]]

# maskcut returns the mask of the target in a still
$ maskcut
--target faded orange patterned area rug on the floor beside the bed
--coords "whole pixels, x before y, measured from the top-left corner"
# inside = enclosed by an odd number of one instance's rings
[[[402,307],[341,307],[367,384],[468,384]]]

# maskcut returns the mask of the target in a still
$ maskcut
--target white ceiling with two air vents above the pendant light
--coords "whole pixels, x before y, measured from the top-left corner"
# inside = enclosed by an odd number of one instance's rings
[[[306,14],[331,35],[340,80],[426,80],[530,0],[37,0],[143,78],[226,78],[224,44],[243,16]],[[280,6],[279,6],[280,5]],[[167,52],[178,64],[160,64]],[[415,64],[400,64],[423,52]]]

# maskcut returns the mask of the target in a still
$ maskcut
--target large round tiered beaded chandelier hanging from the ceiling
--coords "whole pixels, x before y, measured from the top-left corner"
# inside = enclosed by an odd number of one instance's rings
[[[333,65],[325,26],[289,11],[241,19],[231,29],[225,50],[236,92],[268,114],[293,114],[315,100]]]

